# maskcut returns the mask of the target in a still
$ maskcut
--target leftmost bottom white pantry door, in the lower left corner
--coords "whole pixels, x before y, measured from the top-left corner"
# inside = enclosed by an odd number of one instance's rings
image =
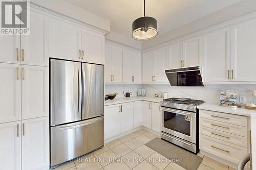
[[[6,165],[3,169],[22,169],[20,125],[20,121],[0,124],[0,163]]]

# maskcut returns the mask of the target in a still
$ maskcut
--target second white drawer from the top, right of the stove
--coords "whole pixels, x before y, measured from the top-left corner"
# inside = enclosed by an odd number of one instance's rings
[[[232,134],[235,134],[235,135],[240,135],[240,136],[247,137],[247,128],[243,127],[243,126],[227,124],[227,123],[224,123],[224,122],[218,122],[218,121],[215,121],[215,120],[210,120],[210,119],[201,118],[201,117],[200,117],[199,125],[203,126],[203,127],[208,127],[208,128],[220,130],[220,131],[223,131],[223,132],[232,133]]]

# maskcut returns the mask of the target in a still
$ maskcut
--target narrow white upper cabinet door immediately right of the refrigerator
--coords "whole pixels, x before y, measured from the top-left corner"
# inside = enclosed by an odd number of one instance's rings
[[[105,83],[112,83],[112,45],[105,44]]]

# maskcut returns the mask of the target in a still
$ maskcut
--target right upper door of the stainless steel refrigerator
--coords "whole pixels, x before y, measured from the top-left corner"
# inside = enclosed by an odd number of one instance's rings
[[[82,119],[104,114],[104,66],[82,63]]]

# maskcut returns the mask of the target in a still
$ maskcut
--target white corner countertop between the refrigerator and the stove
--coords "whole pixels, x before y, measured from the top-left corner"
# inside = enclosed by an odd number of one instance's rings
[[[113,100],[107,100],[104,102],[104,105],[108,106],[108,105],[115,105],[115,104],[135,102],[135,101],[148,101],[148,102],[160,103],[160,101],[162,101],[162,100],[163,100],[163,98],[135,96],[135,97],[131,97],[131,98],[115,98]]]

